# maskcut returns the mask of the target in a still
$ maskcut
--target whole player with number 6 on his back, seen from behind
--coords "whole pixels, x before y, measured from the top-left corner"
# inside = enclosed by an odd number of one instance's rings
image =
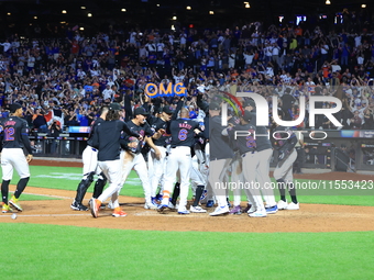
[[[164,195],[158,208],[160,213],[167,213],[169,210],[168,202],[173,183],[177,171],[180,172],[180,200],[178,214],[189,214],[186,209],[188,187],[191,169],[191,146],[195,144],[195,135],[200,134],[199,123],[189,120],[188,109],[180,110],[180,119],[170,123],[172,143],[170,154],[166,164],[166,173],[164,181]]]

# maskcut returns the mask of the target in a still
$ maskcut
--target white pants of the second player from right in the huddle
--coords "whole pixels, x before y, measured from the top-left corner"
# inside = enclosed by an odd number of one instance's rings
[[[260,161],[256,169],[261,192],[268,208],[276,205],[274,191],[273,188],[271,188],[272,179],[268,176],[272,155],[273,149],[271,148],[258,152],[257,158]]]

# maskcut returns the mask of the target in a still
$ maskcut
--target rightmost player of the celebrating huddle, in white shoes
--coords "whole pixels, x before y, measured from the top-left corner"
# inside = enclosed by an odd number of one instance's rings
[[[283,112],[278,110],[279,119],[282,119],[283,115]],[[274,169],[274,178],[277,181],[280,193],[280,200],[277,203],[277,208],[278,210],[299,210],[299,203],[293,183],[293,165],[297,158],[297,152],[295,149],[295,145],[298,142],[297,136],[289,127],[280,126],[278,124],[274,125],[273,134],[273,145],[278,150],[278,164]],[[286,187],[292,199],[289,204],[287,204],[286,200]]]

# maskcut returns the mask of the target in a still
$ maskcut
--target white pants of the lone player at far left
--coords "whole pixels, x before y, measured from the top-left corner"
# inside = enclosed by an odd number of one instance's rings
[[[2,180],[10,181],[14,169],[21,179],[30,177],[29,164],[22,148],[3,148],[1,152]]]

